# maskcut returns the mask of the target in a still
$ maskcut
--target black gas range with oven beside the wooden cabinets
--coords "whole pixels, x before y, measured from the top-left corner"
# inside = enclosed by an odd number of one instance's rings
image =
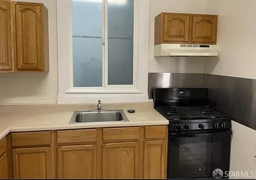
[[[206,88],[155,88],[154,108],[169,120],[167,178],[229,170],[231,119],[210,106]]]

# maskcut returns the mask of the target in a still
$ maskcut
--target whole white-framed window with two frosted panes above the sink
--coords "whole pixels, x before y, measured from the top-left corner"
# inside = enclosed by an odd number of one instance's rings
[[[148,0],[57,0],[58,103],[147,101]]]

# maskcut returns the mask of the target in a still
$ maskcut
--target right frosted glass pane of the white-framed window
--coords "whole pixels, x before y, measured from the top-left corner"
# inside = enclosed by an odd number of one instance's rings
[[[108,0],[108,84],[133,84],[133,0]]]

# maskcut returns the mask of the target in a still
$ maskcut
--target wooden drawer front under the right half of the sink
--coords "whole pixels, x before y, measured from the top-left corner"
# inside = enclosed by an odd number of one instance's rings
[[[103,141],[139,139],[139,127],[104,128]]]

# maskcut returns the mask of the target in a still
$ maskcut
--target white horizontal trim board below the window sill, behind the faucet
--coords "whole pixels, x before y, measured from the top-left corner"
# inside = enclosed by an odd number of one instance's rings
[[[148,102],[148,95],[145,94],[59,94],[57,98],[58,104],[84,104],[97,103],[98,100],[106,103],[115,102]]]

